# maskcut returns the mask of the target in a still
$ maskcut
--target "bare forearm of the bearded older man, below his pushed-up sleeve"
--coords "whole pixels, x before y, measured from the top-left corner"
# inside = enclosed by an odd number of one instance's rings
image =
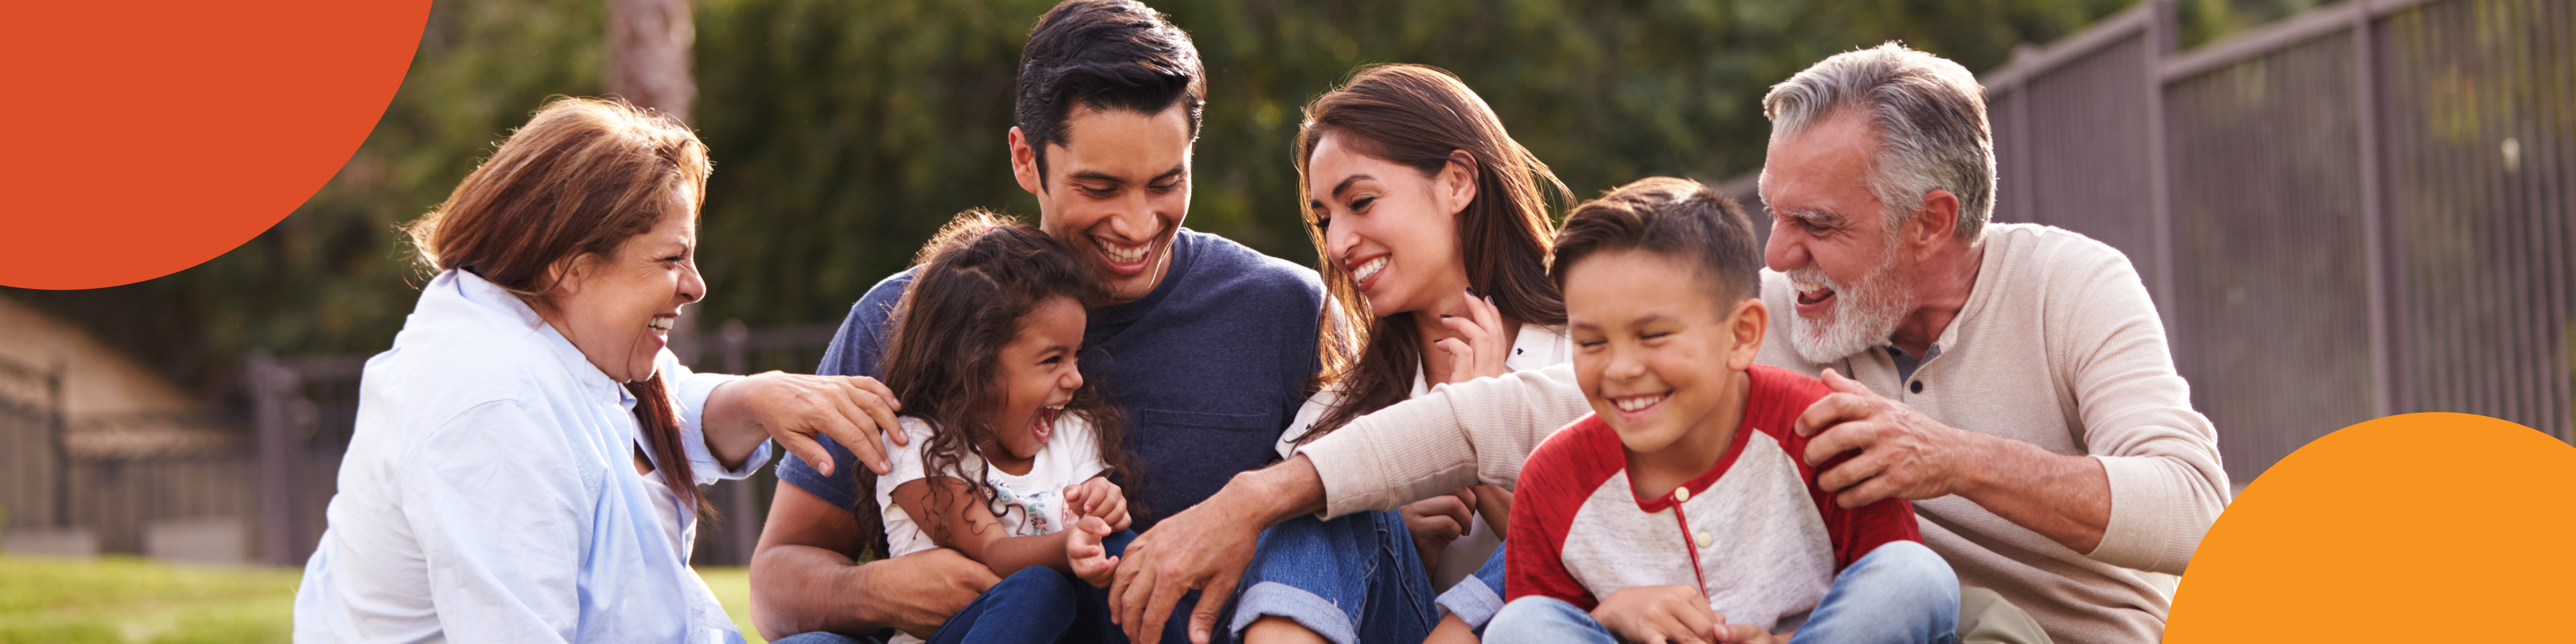
[[[1960,497],[2074,551],[2102,546],[2110,528],[2110,474],[2092,456],[2053,453],[2032,443],[1978,435],[1984,461]]]

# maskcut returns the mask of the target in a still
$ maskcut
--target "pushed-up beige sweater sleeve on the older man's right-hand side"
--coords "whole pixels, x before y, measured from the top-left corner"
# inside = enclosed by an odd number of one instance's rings
[[[2087,556],[2182,574],[2228,507],[2218,430],[2192,410],[2192,389],[2174,371],[2164,322],[2136,270],[2105,263],[2084,283],[2066,309],[2079,319],[2056,350],[2074,366],[2084,448],[2110,479],[2110,526]]]

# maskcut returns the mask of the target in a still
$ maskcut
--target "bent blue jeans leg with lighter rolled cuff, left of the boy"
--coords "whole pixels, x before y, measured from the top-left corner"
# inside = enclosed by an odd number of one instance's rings
[[[1265,616],[1334,644],[1422,641],[1440,623],[1432,577],[1394,510],[1270,526],[1242,587],[1226,621],[1236,639]]]

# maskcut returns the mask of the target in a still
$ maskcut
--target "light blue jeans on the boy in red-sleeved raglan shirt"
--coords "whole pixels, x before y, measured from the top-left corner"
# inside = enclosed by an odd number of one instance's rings
[[[1558,598],[1520,598],[1494,613],[1486,644],[1597,641],[1618,636],[1589,611]],[[1950,562],[1914,541],[1888,541],[1834,574],[1790,644],[1955,644],[1958,574]]]

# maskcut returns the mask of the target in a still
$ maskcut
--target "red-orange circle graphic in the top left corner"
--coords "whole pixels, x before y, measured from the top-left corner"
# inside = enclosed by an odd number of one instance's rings
[[[258,237],[376,126],[428,15],[428,0],[13,3],[0,283],[134,283]]]

